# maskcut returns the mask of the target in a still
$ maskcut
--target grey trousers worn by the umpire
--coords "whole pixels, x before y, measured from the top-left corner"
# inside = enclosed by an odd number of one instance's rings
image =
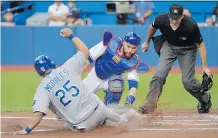
[[[182,83],[184,88],[196,99],[202,102],[201,83],[195,78],[195,62],[197,47],[192,49],[182,49],[170,45],[167,41],[163,43],[160,50],[159,63],[155,69],[153,78],[150,82],[150,90],[147,94],[147,106],[157,106],[157,101],[162,93],[163,85],[172,65],[176,59],[182,71]]]

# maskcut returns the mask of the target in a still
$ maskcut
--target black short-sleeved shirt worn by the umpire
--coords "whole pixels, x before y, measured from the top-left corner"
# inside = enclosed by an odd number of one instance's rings
[[[175,31],[170,26],[168,13],[158,15],[152,26],[160,29],[168,43],[174,46],[190,46],[201,44],[203,41],[198,25],[191,17],[186,15]]]

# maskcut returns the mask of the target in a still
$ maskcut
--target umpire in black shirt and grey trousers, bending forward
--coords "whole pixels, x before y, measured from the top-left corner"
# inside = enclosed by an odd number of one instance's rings
[[[160,29],[162,35],[154,38],[153,35],[157,29]],[[168,73],[174,61],[178,59],[184,88],[199,101],[198,112],[208,113],[212,106],[209,89],[203,89],[202,84],[194,76],[196,55],[199,50],[202,73],[211,79],[211,71],[207,67],[206,48],[195,21],[183,15],[182,5],[173,4],[170,6],[169,13],[155,18],[149,27],[147,39],[142,45],[143,52],[147,51],[151,39],[160,57],[150,82],[147,101],[140,107],[140,112],[149,113],[155,110]]]

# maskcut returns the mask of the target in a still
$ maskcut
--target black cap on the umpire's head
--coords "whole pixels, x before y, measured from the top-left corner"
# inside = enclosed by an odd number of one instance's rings
[[[179,19],[182,17],[183,7],[180,4],[172,4],[169,9],[169,17]]]

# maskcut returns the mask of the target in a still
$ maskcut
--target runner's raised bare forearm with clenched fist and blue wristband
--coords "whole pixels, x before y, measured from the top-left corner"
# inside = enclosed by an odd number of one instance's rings
[[[89,49],[87,46],[78,38],[76,37],[70,28],[64,28],[61,30],[60,35],[65,38],[69,38],[72,40],[73,44],[77,48],[78,51],[82,52],[85,58],[88,58]]]

